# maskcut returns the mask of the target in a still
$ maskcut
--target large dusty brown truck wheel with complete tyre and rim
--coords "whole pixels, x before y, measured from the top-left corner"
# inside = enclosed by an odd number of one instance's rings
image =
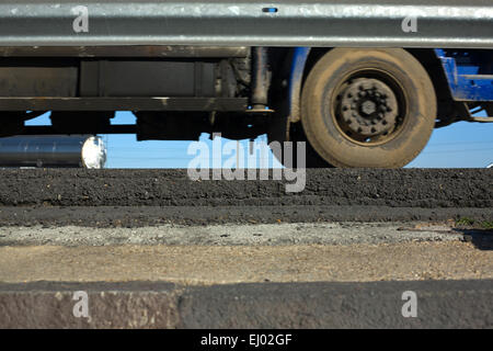
[[[425,147],[436,118],[433,83],[399,48],[335,48],[310,71],[301,123],[335,167],[399,168]]]

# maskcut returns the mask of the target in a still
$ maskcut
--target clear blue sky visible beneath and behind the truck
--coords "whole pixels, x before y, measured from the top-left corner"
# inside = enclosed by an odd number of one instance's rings
[[[112,120],[113,124],[134,122],[130,112],[118,112]],[[49,118],[46,114],[26,124],[46,125]],[[187,155],[190,141],[137,141],[135,135],[101,136],[107,145],[106,168],[186,168],[195,158],[194,155]],[[200,139],[213,149],[207,134],[203,134]],[[266,137],[260,136],[256,140],[266,141]],[[226,141],[223,139],[222,145]],[[246,150],[248,140],[242,140],[241,146]],[[223,160],[228,158],[222,157]],[[490,163],[493,163],[493,124],[459,122],[435,129],[426,148],[408,167],[484,168]],[[268,165],[278,167],[272,156],[268,157]]]

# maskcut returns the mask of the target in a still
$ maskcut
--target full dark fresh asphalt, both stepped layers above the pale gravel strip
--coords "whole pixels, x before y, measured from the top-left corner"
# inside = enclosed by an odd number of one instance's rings
[[[305,190],[286,193],[289,182],[271,176],[192,181],[186,170],[0,170],[0,226],[493,218],[491,169],[306,171]]]

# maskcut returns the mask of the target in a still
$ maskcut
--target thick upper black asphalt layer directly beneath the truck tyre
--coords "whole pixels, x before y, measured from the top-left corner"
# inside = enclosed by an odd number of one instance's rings
[[[310,169],[284,181],[191,181],[186,170],[1,170],[0,205],[493,207],[491,169]]]

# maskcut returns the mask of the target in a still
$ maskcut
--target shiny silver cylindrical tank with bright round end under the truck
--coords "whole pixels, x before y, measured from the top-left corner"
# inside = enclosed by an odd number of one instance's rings
[[[104,168],[106,147],[93,135],[39,135],[0,138],[0,167]]]

